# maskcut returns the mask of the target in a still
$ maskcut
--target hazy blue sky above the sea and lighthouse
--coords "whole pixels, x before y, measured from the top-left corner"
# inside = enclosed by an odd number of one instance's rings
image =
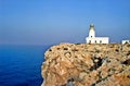
[[[0,0],[0,44],[86,42],[89,25],[130,39],[130,0]]]

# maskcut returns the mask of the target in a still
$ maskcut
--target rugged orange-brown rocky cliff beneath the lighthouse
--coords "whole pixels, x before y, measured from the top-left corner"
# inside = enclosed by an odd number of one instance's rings
[[[44,58],[41,86],[130,86],[130,44],[61,44]]]

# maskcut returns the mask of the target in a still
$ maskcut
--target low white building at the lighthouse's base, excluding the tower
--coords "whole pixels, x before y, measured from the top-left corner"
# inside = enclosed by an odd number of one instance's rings
[[[108,44],[109,39],[108,37],[87,37],[86,41],[87,44]]]

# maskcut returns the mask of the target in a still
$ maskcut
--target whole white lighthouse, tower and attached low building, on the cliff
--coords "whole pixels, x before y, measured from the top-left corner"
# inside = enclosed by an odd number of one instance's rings
[[[95,37],[94,25],[90,25],[89,37],[86,38],[87,44],[108,44],[108,37]]]

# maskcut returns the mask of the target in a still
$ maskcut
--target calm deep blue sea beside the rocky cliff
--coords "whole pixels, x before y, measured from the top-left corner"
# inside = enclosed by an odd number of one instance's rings
[[[40,86],[49,46],[0,46],[0,86]]]

